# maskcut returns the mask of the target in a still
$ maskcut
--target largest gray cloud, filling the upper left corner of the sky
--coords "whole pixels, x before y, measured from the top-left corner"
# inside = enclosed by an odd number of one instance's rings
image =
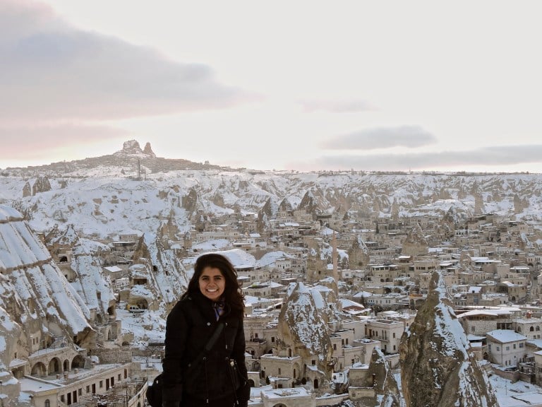
[[[248,95],[209,66],[70,28],[43,6],[0,6],[0,118],[112,119],[221,108]]]

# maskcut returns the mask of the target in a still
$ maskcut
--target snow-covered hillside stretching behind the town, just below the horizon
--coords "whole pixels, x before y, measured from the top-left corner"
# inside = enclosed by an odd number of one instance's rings
[[[219,170],[186,170],[148,174],[146,179],[98,176],[50,177],[51,190],[23,198],[35,177],[0,177],[0,203],[21,211],[37,232],[54,225],[76,225],[82,236],[155,232],[173,220],[179,232],[190,230],[193,209],[204,213],[258,213],[271,201],[299,205],[312,194],[318,210],[358,211],[390,216],[442,216],[450,208],[462,217],[475,213],[515,215],[540,223],[542,175],[362,175]],[[92,175],[90,175],[92,174]],[[195,206],[188,202],[195,197]],[[394,204],[395,203],[395,204]]]

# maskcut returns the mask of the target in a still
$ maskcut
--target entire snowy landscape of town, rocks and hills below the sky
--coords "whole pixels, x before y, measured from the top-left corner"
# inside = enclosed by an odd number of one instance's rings
[[[0,406],[146,405],[195,259],[234,264],[253,407],[542,406],[542,175],[0,170]]]

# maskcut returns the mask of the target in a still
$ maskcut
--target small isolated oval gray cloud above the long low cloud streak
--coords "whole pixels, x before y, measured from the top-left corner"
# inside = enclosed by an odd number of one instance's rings
[[[323,143],[331,150],[374,150],[376,148],[416,148],[435,143],[433,134],[420,126],[376,127],[355,131]]]

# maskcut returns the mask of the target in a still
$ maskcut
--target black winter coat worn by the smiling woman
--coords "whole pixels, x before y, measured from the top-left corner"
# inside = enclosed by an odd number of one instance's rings
[[[204,360],[194,360],[219,322],[224,323],[224,329],[215,345]],[[182,406],[183,394],[203,403],[231,394],[232,399],[239,401],[239,406],[247,406],[250,387],[234,391],[227,371],[227,358],[236,360],[241,375],[247,377],[243,314],[226,306],[217,321],[212,301],[203,294],[194,293],[179,300],[167,317],[162,360],[164,405],[176,406],[180,402]]]

